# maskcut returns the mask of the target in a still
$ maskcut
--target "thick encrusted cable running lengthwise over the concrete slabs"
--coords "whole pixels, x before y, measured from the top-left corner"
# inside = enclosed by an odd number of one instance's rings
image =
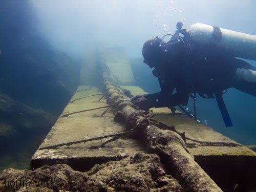
[[[115,108],[115,119],[125,121],[128,129],[137,129],[147,148],[165,162],[168,171],[176,176],[186,191],[222,191],[188,153],[179,134],[160,129],[157,123],[152,123],[157,122],[152,118],[152,112],[139,110],[138,106],[130,101],[120,102],[127,97],[113,85],[111,72],[103,60],[99,60],[103,84],[108,94],[107,100]]]

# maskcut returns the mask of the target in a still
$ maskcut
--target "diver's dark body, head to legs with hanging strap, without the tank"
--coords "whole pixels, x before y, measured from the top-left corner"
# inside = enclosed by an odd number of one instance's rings
[[[189,96],[216,98],[226,126],[232,126],[222,93],[228,88],[256,96],[256,68],[216,45],[190,46],[181,40],[156,37],[143,45],[144,63],[158,77],[161,92],[137,95],[131,100],[143,110],[187,105]]]

